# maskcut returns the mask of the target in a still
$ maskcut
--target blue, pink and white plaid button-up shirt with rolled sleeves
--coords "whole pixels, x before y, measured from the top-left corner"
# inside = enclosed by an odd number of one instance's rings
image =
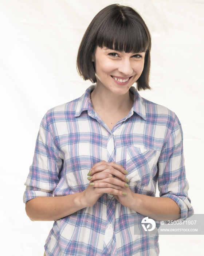
[[[134,87],[129,114],[113,129],[93,110],[89,87],[81,98],[49,110],[40,125],[24,202],[38,196],[62,196],[85,190],[95,163],[114,161],[129,172],[135,193],[173,199],[181,218],[193,214],[185,178],[183,137],[177,116],[141,98]],[[47,255],[158,255],[158,233],[134,234],[144,216],[103,194],[97,203],[54,222]]]

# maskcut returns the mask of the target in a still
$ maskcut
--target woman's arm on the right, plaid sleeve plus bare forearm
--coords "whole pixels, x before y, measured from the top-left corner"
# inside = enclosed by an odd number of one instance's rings
[[[181,125],[176,117],[158,158],[160,197],[135,194],[127,189],[126,202],[121,197],[116,197],[121,204],[146,216],[158,214],[154,216],[158,220],[185,219],[193,214],[185,177],[182,135]]]

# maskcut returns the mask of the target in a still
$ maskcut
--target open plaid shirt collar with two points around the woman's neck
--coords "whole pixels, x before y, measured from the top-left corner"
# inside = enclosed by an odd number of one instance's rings
[[[76,106],[75,117],[80,116],[81,113],[86,110],[91,116],[95,115],[90,98],[91,91],[94,90],[94,87],[95,86],[92,85],[89,88],[87,88],[82,97],[79,98],[78,104]],[[134,86],[130,88],[130,91],[134,95],[134,102],[131,110],[137,113],[139,116],[141,116],[144,120],[146,120],[146,110],[143,98],[140,96],[140,94],[138,93]]]

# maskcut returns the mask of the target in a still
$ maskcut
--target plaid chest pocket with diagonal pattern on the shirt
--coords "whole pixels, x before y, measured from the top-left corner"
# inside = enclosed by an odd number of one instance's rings
[[[142,186],[148,186],[156,165],[157,151],[134,146],[127,148],[126,170],[129,173],[127,178],[130,182],[137,182]]]

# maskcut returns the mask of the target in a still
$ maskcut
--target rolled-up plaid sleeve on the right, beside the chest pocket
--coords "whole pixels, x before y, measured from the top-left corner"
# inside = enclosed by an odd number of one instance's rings
[[[183,132],[176,116],[158,160],[158,189],[160,196],[169,197],[178,204],[181,219],[193,214],[188,188],[183,155]]]

